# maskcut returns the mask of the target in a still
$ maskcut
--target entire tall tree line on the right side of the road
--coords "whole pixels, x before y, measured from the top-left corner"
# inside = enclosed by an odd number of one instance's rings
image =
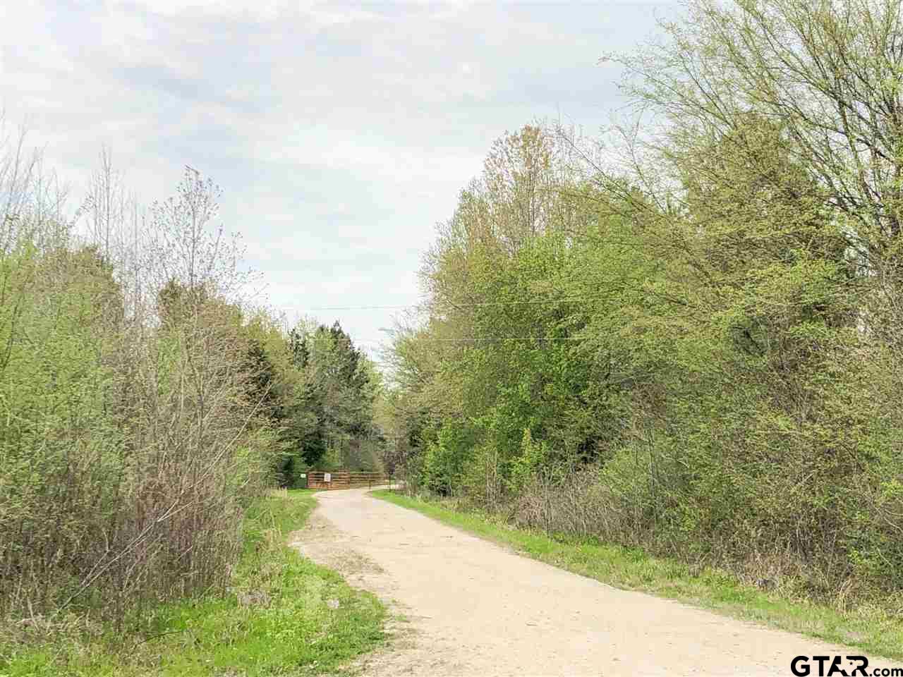
[[[399,320],[386,462],[559,533],[903,595],[903,24],[693,0],[636,116],[494,144]],[[895,601],[896,600],[896,601]]]

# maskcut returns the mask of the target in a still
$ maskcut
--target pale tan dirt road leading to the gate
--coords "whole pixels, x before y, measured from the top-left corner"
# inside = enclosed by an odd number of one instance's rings
[[[365,675],[792,675],[799,654],[862,654],[610,588],[365,490],[317,500],[294,544],[405,617]]]

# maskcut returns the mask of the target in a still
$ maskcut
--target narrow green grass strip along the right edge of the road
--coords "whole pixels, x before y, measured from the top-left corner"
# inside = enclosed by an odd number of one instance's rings
[[[903,659],[903,618],[882,607],[861,606],[844,612],[805,599],[784,597],[779,590],[765,592],[742,583],[727,571],[706,569],[693,575],[682,562],[651,557],[638,549],[517,529],[491,515],[459,512],[385,490],[372,493],[443,524],[507,545],[535,560],[616,588],[639,590],[725,616],[858,646],[870,656]]]

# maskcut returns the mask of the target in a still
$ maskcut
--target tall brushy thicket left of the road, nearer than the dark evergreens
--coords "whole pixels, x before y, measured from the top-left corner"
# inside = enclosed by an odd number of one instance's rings
[[[231,264],[186,225],[211,190],[189,172],[156,216],[205,262],[183,279],[172,251],[128,268],[27,211],[0,249],[0,616],[121,620],[228,580],[278,445]]]

